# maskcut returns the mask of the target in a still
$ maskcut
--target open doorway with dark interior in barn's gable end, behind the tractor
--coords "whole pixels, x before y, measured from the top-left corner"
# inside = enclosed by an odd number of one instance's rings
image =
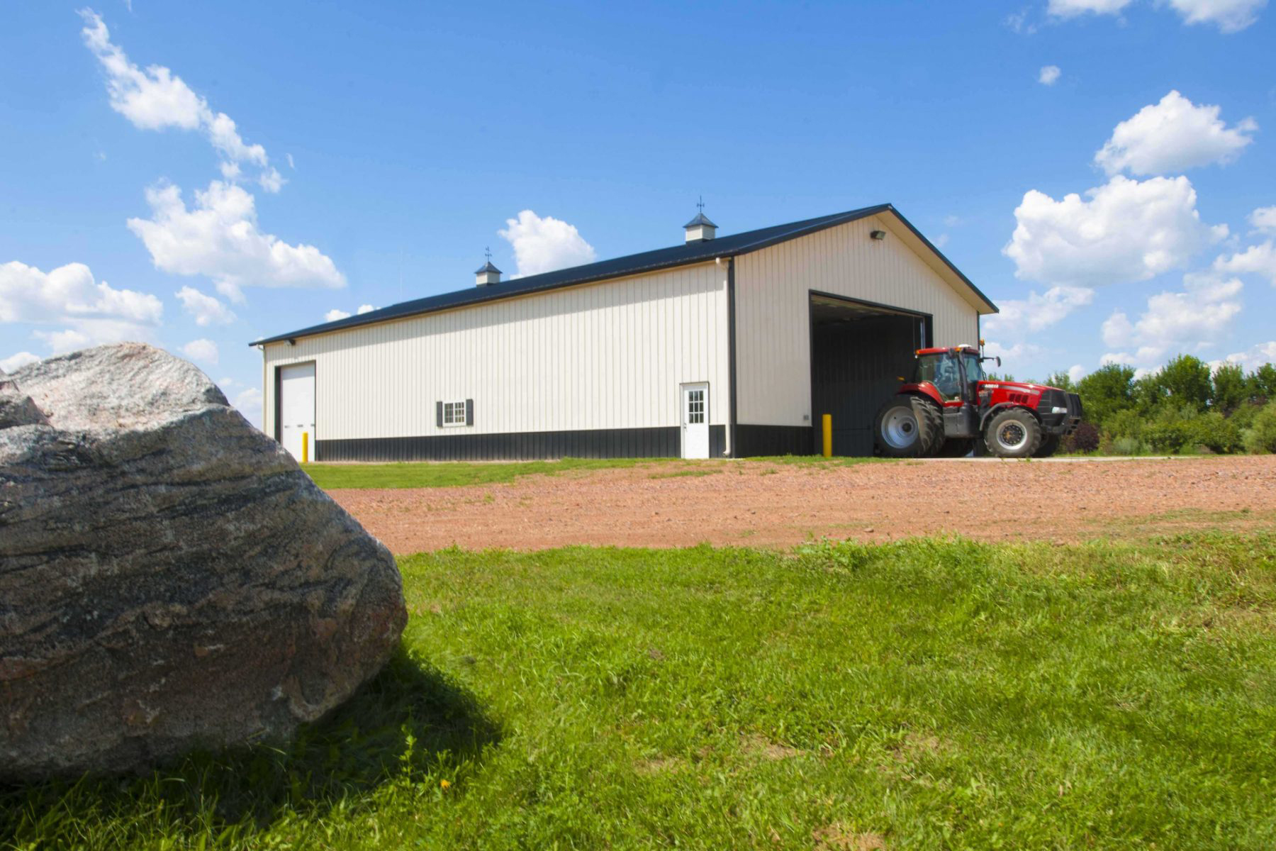
[[[810,398],[814,445],[833,416],[833,454],[872,455],[873,417],[930,346],[928,314],[810,293]]]

